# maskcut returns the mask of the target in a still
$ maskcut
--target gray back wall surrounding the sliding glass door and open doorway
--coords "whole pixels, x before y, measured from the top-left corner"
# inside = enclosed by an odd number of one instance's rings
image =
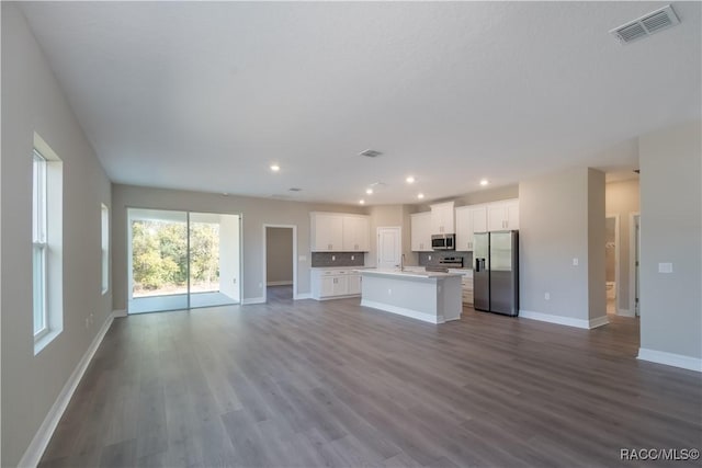
[[[242,226],[242,286],[244,301],[263,296],[263,225],[297,226],[297,293],[309,293],[309,213],[336,212],[365,214],[351,205],[298,203],[280,199],[218,195],[166,189],[112,185],[112,237],[114,239],[113,277],[116,310],[126,309],[127,303],[127,207],[182,209],[203,213],[241,214]]]

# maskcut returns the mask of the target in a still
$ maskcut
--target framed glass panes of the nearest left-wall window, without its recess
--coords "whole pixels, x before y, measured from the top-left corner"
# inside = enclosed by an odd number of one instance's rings
[[[48,256],[46,165],[46,158],[35,149],[32,183],[32,287],[34,299],[34,340],[43,338],[48,332],[48,308],[46,305]]]

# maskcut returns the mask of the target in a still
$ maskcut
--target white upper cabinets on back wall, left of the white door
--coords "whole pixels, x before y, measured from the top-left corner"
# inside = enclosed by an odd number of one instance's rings
[[[367,252],[371,250],[371,224],[364,215],[310,213],[313,252]]]

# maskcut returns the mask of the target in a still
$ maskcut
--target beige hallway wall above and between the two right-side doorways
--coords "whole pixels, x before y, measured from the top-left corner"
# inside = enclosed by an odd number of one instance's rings
[[[639,213],[638,179],[608,183],[604,187],[607,215],[619,215],[619,283],[616,285],[618,305],[620,309],[631,309],[630,262],[631,262],[631,215]]]

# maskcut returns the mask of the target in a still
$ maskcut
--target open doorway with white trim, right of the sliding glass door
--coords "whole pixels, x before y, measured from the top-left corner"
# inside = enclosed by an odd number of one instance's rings
[[[297,226],[263,225],[263,303],[297,299]]]

